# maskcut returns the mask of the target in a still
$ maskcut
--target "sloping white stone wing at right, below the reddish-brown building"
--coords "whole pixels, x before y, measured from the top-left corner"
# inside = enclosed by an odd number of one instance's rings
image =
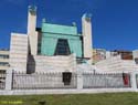
[[[138,71],[138,65],[134,60],[121,60],[120,55],[112,56],[95,64],[103,72],[131,72]]]

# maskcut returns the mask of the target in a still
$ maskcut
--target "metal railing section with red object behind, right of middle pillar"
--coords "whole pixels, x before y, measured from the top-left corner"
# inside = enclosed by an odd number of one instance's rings
[[[83,88],[130,87],[130,74],[83,74]]]

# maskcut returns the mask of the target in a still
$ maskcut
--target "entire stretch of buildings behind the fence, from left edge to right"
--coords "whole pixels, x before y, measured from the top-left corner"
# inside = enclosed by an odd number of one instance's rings
[[[81,66],[82,70],[97,71],[138,70],[137,50],[93,49],[91,14],[85,13],[82,17],[82,33],[77,32],[75,23],[55,24],[45,19],[42,19],[41,28],[36,28],[36,7],[30,6],[26,30],[26,33],[11,33],[10,52],[1,51],[1,71],[9,66],[29,74],[47,71],[73,72]],[[92,64],[95,64],[93,69]]]

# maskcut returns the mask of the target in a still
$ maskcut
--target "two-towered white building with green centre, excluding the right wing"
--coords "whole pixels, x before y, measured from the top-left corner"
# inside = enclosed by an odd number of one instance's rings
[[[91,15],[77,27],[53,24],[42,20],[36,28],[36,7],[29,7],[28,33],[11,33],[10,67],[18,72],[75,71],[77,59],[92,64]]]

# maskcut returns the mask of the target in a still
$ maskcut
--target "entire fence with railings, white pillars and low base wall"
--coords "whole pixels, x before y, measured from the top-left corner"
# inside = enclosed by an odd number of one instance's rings
[[[73,72],[71,84],[65,85],[62,72],[15,74],[9,71],[6,76],[6,88],[0,90],[0,95],[138,92],[137,74],[138,72],[95,74],[77,71]]]

